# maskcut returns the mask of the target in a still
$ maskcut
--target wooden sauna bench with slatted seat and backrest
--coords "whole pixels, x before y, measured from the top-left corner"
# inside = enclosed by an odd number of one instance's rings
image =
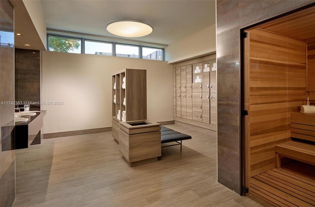
[[[291,113],[291,140],[276,145],[276,167],[288,157],[315,165],[315,114]]]

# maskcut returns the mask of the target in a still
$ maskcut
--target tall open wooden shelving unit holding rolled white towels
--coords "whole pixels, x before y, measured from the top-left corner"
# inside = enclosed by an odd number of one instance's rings
[[[118,142],[118,122],[147,119],[146,74],[146,70],[125,69],[112,76],[112,131]]]

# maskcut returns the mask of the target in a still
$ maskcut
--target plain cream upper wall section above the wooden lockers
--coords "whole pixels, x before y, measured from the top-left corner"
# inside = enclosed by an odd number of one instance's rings
[[[216,51],[216,25],[206,27],[165,48],[168,63],[185,60]]]

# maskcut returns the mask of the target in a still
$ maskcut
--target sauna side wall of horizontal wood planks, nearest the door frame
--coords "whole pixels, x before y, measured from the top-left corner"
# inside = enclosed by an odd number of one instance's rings
[[[250,31],[250,176],[275,167],[275,145],[290,137],[290,112],[306,96],[306,43]]]

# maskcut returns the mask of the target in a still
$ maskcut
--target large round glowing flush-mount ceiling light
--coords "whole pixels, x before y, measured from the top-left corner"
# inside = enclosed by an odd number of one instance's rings
[[[107,25],[107,31],[121,37],[143,37],[153,31],[152,26],[135,21],[122,20]]]

